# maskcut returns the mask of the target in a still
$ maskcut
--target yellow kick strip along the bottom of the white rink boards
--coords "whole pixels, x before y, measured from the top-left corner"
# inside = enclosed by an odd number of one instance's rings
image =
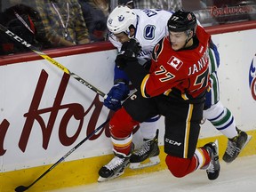
[[[256,154],[256,130],[248,131],[247,133],[252,135],[252,140],[243,149],[239,157],[252,156]],[[199,139],[197,147],[202,147],[204,146],[204,144],[212,142],[214,140],[219,140],[221,160],[228,143],[228,139],[223,135]],[[121,177],[164,170],[167,168],[165,165],[165,156],[166,155],[164,154],[164,147],[160,146],[160,164],[139,170],[131,170],[127,168],[124,172],[124,175]],[[105,155],[92,158],[84,158],[76,161],[63,162],[56,166],[54,169],[52,169],[52,171],[45,175],[44,178],[36,182],[36,184],[29,188],[28,191],[45,192],[47,190],[70,188],[79,185],[96,183],[99,177],[98,172],[100,167],[108,164],[112,157],[113,155]],[[52,162],[52,164],[54,163],[55,162]],[[14,188],[20,185],[28,186],[34,180],[36,180],[36,178],[38,178],[43,172],[49,169],[52,164],[23,170],[16,170],[13,172],[1,172],[0,191],[13,192]]]

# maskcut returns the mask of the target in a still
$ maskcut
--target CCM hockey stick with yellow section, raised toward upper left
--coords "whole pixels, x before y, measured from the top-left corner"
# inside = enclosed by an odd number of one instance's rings
[[[17,36],[14,33],[12,33],[12,31],[5,28],[2,24],[0,24],[0,29],[2,31],[4,31],[4,33],[6,35],[11,36],[12,39],[14,39],[17,42],[19,42],[20,44],[23,44],[24,46],[28,47],[28,49],[30,49],[32,52],[36,52],[36,54],[38,54],[39,56],[44,58],[44,60],[48,60],[50,63],[55,65],[57,68],[60,68],[62,71],[67,73],[69,76],[72,76],[73,78],[75,78],[78,82],[87,86],[93,92],[96,92],[96,93],[100,94],[100,96],[102,96],[102,97],[106,97],[106,94],[104,92],[101,92],[99,89],[94,87],[92,84],[89,84],[88,82],[86,82],[82,77],[77,76],[75,73],[72,73],[71,71],[68,70],[68,68],[61,65],[58,61],[53,60],[50,56],[46,55],[44,52],[41,52],[38,48],[36,48],[32,44],[28,44],[28,42],[26,42],[24,39],[20,38],[20,36]]]

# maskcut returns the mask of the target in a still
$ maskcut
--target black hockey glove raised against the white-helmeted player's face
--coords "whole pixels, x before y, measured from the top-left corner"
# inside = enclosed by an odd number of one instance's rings
[[[116,67],[123,69],[126,66],[127,60],[137,60],[140,49],[140,43],[134,38],[130,39],[128,42],[124,42],[115,60]]]

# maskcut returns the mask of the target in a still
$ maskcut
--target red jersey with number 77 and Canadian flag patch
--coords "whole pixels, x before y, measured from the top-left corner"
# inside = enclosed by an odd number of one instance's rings
[[[143,97],[154,97],[159,94],[172,94],[179,90],[184,100],[196,98],[209,85],[208,42],[210,35],[204,28],[197,27],[196,36],[199,44],[195,49],[175,52],[165,36],[154,47],[150,73],[144,77],[140,86]]]

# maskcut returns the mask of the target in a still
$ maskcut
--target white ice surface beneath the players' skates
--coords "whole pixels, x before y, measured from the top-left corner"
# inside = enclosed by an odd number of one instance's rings
[[[61,188],[51,192],[255,192],[256,156],[238,157],[233,163],[220,161],[220,176],[208,180],[206,172],[198,170],[178,179],[167,171],[120,177],[102,183]]]

